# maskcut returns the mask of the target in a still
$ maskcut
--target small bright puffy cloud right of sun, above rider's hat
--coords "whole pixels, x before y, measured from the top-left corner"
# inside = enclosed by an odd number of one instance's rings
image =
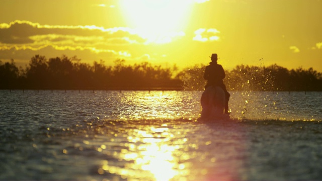
[[[220,32],[217,29],[204,29],[200,28],[195,31],[195,36],[193,37],[194,41],[201,41],[201,42],[207,42],[207,41],[219,41],[220,37],[217,36]]]

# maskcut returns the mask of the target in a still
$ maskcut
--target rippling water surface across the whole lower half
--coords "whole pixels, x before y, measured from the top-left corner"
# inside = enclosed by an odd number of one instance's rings
[[[322,179],[321,92],[0,91],[0,180]]]

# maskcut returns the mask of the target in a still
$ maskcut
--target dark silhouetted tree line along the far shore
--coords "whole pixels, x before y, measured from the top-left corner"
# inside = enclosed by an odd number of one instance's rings
[[[184,89],[203,90],[205,65],[179,70],[141,62],[126,65],[117,59],[114,66],[104,61],[93,65],[76,56],[46,59],[35,55],[28,66],[0,61],[0,89]],[[322,73],[313,68],[288,70],[276,64],[237,65],[225,71],[224,82],[230,91],[322,91]]]

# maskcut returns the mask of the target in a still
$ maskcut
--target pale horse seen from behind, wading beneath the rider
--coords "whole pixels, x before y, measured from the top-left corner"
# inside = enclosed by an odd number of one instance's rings
[[[201,95],[201,118],[202,119],[221,119],[225,106],[225,92],[219,86],[209,86]]]

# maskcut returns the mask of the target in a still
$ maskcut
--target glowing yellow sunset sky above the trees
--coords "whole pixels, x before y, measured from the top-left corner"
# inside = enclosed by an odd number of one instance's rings
[[[0,0],[0,60],[208,64],[322,72],[322,0]]]

